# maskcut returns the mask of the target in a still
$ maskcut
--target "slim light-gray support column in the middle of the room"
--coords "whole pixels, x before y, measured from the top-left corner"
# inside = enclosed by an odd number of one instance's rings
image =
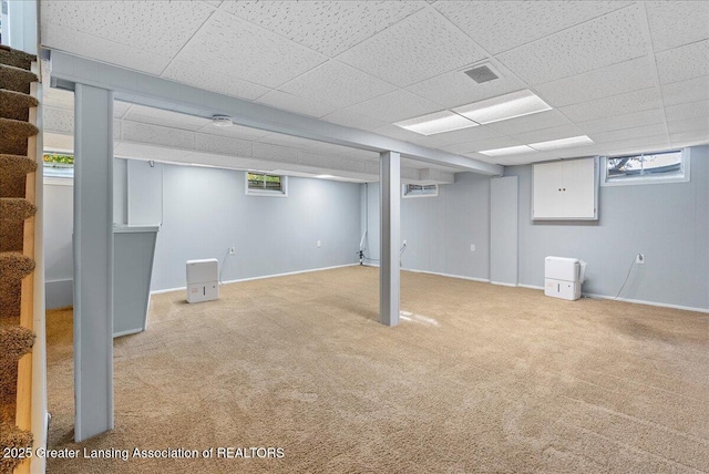
[[[380,154],[381,265],[379,267],[379,321],[399,324],[399,244],[401,241],[401,157]]]

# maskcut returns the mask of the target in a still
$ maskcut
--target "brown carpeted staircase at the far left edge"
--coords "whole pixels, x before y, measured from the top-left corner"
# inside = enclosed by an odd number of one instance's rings
[[[33,61],[33,55],[0,47],[0,452],[32,444],[32,434],[18,427],[16,416],[19,361],[34,343],[22,316],[32,298],[31,285],[23,288],[22,280],[34,271],[32,240],[25,241],[25,225],[30,223],[31,236],[37,212],[34,177],[29,176],[37,163],[28,146],[28,138],[39,133],[30,123],[30,109],[38,106],[31,95],[31,83],[38,80],[30,71]],[[0,456],[0,474],[12,473],[20,461]]]

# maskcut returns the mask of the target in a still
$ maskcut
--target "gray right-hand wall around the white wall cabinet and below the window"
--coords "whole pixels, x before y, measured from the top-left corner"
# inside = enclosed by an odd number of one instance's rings
[[[588,262],[583,291],[709,309],[709,146],[691,150],[691,182],[602,186],[597,223],[535,223],[532,166],[508,167],[520,177],[520,284],[544,285],[544,257]]]

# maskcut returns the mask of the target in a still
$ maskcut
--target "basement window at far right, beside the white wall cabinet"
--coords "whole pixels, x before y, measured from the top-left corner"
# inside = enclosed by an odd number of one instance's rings
[[[689,181],[689,150],[607,156],[604,186],[626,184],[686,183]]]

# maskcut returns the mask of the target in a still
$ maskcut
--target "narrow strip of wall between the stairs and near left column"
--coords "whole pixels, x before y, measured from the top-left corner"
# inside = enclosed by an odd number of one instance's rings
[[[72,243],[74,186],[45,184],[44,289],[48,309],[72,305]]]

